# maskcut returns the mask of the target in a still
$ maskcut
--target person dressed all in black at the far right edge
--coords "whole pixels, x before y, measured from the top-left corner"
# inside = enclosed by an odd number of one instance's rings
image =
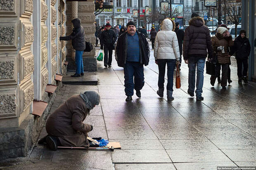
[[[242,80],[247,84],[247,71],[248,71],[248,57],[251,52],[251,45],[249,39],[246,37],[246,31],[241,30],[239,36],[235,38],[234,46],[231,48],[230,55],[235,53],[235,59],[237,60],[237,76],[238,83],[242,84]],[[244,67],[242,73],[242,66]]]

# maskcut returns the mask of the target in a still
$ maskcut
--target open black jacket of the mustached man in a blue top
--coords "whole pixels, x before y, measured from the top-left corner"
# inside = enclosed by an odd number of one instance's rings
[[[127,32],[123,33],[119,36],[116,44],[116,61],[119,67],[124,67],[126,64],[127,58]],[[140,64],[144,64],[147,66],[149,64],[149,56],[150,56],[150,48],[149,43],[145,35],[137,31],[139,36],[139,44],[140,44]]]

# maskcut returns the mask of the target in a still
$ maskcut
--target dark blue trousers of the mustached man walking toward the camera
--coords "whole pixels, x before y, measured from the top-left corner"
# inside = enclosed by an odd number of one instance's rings
[[[124,71],[124,91],[126,96],[133,96],[133,89],[141,90],[144,86],[144,68],[140,62],[126,61]],[[133,83],[134,76],[134,83]]]

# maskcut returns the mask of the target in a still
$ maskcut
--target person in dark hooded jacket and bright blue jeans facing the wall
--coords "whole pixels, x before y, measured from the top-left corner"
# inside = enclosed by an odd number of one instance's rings
[[[81,26],[81,20],[75,18],[72,21],[73,30],[69,36],[59,37],[59,40],[72,40],[72,46],[76,50],[76,73],[71,77],[83,76],[83,50],[85,50],[85,31]]]

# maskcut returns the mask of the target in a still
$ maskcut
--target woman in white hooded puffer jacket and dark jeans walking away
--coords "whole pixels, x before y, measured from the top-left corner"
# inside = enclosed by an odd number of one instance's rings
[[[156,34],[154,45],[155,62],[158,65],[158,87],[157,94],[164,97],[164,75],[167,64],[167,99],[173,100],[173,72],[180,60],[180,50],[177,35],[174,32],[175,23],[166,18],[162,22],[162,31]]]

